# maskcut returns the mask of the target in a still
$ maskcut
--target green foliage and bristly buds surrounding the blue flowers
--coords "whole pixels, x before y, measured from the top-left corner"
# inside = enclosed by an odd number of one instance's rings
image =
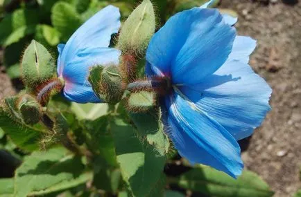
[[[26,86],[0,104],[0,148],[15,170],[14,177],[0,178],[0,196],[184,196],[170,188],[207,196],[273,196],[250,171],[238,180],[200,165],[179,176],[164,173],[176,153],[164,132],[157,95],[126,90],[124,70],[101,65],[90,70],[89,82],[108,104],[76,104],[55,95],[64,86],[55,72],[55,47],[101,8],[112,4],[121,10],[125,22],[116,43],[126,68],[145,65],[141,56],[156,22],[205,1],[138,2],[37,0],[11,8],[11,1],[0,0],[4,64]],[[141,73],[134,72],[127,82]]]

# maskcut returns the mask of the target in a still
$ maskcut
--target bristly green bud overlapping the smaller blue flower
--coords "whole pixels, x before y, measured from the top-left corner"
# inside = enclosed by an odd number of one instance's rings
[[[89,82],[96,95],[110,104],[120,102],[123,95],[122,77],[117,66],[94,66],[89,75]]]

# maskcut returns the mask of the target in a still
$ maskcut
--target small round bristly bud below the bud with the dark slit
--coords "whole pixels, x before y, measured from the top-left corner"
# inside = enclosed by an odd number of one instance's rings
[[[33,125],[40,122],[42,108],[35,97],[22,95],[19,97],[17,106],[25,124]]]

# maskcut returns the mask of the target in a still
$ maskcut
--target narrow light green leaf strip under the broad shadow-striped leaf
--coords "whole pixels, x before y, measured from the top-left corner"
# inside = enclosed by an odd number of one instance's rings
[[[83,185],[89,180],[92,180],[92,173],[83,173],[78,178],[74,178],[72,180],[65,180],[63,182],[58,183],[57,185],[53,185],[47,189],[41,191],[33,191],[29,194],[29,196],[44,196],[45,194],[51,194],[58,191],[65,191],[66,189],[71,189],[73,187],[77,187],[78,185]]]

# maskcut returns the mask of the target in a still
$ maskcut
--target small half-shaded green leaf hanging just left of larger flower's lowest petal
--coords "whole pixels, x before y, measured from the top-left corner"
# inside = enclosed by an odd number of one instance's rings
[[[148,113],[131,113],[130,117],[137,126],[139,135],[146,138],[161,156],[169,151],[169,138],[164,133],[164,126],[161,121],[161,111],[148,111]],[[147,121],[146,121],[147,120]]]

